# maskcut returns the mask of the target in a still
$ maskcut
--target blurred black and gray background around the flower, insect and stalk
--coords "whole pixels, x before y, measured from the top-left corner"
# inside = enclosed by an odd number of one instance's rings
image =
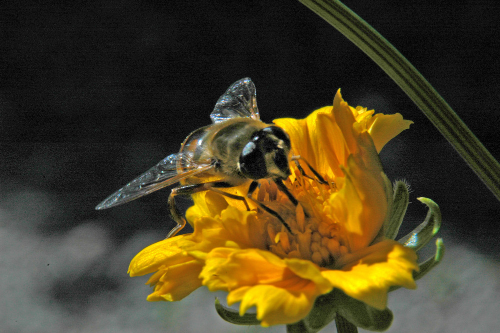
[[[496,1],[345,4],[500,157]],[[416,197],[429,197],[447,253],[416,291],[391,293],[389,331],[497,330],[500,203],[391,79],[300,3],[2,2],[0,25],[1,332],[284,332],[225,323],[205,288],[145,300],[146,277],[126,270],[174,225],[168,190],[94,211],[208,124],[246,76],[265,122],[303,118],[337,88],[352,106],[415,122],[381,159],[411,184],[401,233],[425,217]]]

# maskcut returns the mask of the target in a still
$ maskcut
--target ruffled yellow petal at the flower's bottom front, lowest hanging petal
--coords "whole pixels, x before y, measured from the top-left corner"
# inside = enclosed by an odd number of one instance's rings
[[[229,304],[241,301],[240,314],[256,306],[263,326],[303,318],[315,298],[331,290],[329,281],[310,261],[280,259],[258,249],[213,249],[200,278],[209,290],[229,291]]]

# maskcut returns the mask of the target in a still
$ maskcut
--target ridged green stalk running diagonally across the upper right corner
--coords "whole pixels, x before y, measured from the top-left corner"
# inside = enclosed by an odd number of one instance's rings
[[[500,164],[406,58],[341,2],[299,1],[336,28],[380,66],[500,200]]]

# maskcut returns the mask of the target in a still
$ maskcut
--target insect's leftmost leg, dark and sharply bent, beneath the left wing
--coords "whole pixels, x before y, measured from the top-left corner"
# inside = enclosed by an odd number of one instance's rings
[[[184,185],[184,186],[178,186],[172,189],[170,192],[170,195],[168,196],[168,207],[170,208],[170,214],[172,215],[173,219],[175,222],[177,222],[177,225],[170,230],[166,238],[170,238],[175,236],[177,232],[179,232],[186,224],[186,219],[182,214],[179,213],[177,210],[177,207],[175,206],[175,199],[173,198],[174,196],[180,194],[180,195],[191,195],[196,192],[202,192],[202,191],[214,191],[216,193],[219,193],[221,195],[224,195],[226,197],[236,199],[236,200],[241,200],[244,202],[246,210],[250,210],[250,207],[248,206],[248,203],[246,202],[246,199],[240,195],[235,195],[231,193],[226,193],[224,191],[220,191],[217,189],[217,187],[233,187],[234,185],[231,185],[227,182],[207,182],[207,183],[200,183],[200,184],[191,184],[191,185]]]

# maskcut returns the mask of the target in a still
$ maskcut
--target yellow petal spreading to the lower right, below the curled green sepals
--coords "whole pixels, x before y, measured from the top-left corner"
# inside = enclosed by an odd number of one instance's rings
[[[346,265],[341,270],[323,270],[322,275],[334,287],[375,308],[386,307],[390,286],[416,288],[412,276],[418,270],[416,254],[396,241],[383,240],[343,260]]]

